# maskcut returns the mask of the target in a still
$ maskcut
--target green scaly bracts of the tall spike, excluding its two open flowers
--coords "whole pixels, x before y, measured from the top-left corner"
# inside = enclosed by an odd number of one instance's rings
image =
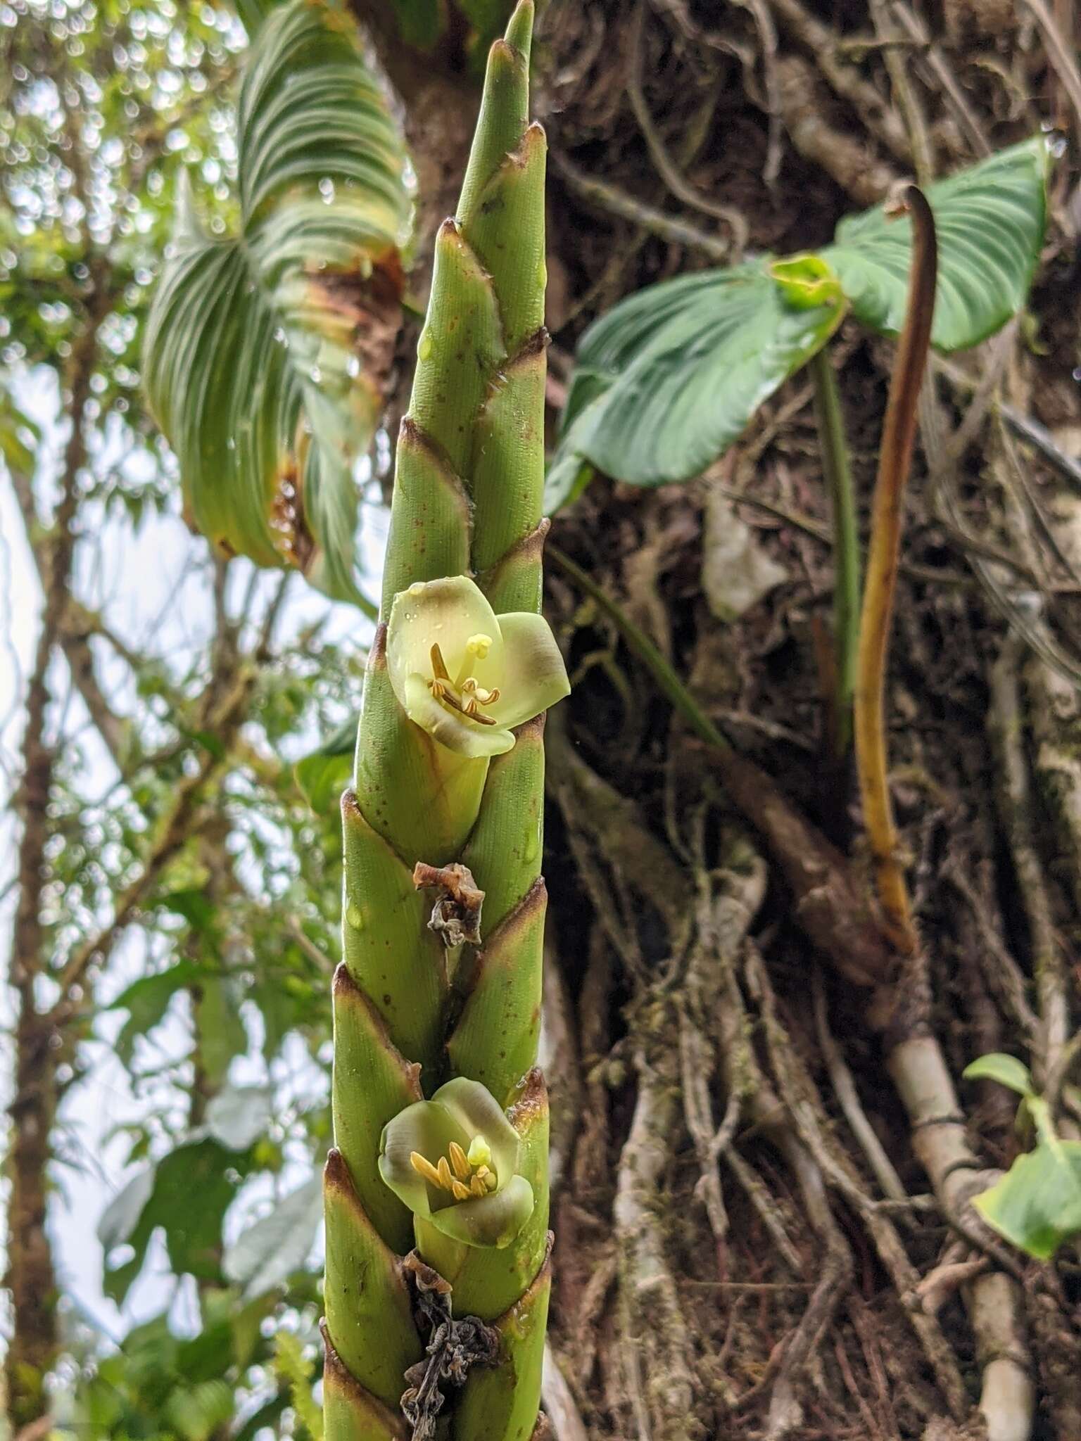
[[[548,1098],[535,1068],[546,892],[543,718],[489,761],[406,719],[389,682],[395,595],[473,575],[496,612],[539,611],[545,523],[545,137],[528,120],[532,0],[489,56],[455,219],[435,242],[428,314],[398,441],[382,624],[369,654],[355,785],[343,797],[343,964],[334,981],[326,1174],[326,1441],[389,1441],[402,1372],[424,1353],[402,1255],[453,1285],[455,1317],[499,1340],[440,1412],[454,1441],[526,1441],[538,1417],[548,1307]],[[418,862],[461,862],[486,893],[479,948],[428,929]],[[483,1082],[520,1137],[533,1212],[503,1249],[414,1218],[382,1182],[389,1120],[453,1076]],[[448,1421],[444,1422],[444,1418]],[[442,1429],[441,1432],[442,1434]]]

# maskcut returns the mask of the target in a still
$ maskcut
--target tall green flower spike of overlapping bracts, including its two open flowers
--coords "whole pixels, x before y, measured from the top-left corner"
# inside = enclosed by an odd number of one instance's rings
[[[428,1340],[396,1290],[411,1245],[453,1287],[454,1316],[497,1339],[496,1366],[470,1372],[440,1411],[451,1441],[528,1438],[538,1417],[549,1293],[539,712],[566,679],[538,614],[545,140],[528,121],[532,19],[520,0],[491,49],[458,212],[435,242],[398,442],[386,624],[343,798],[327,1441],[398,1437],[375,1404],[388,1399],[382,1362],[392,1355],[401,1378]],[[418,863],[435,895],[417,889]],[[483,940],[448,948],[461,867],[484,892]],[[378,1313],[350,1301],[356,1275]]]

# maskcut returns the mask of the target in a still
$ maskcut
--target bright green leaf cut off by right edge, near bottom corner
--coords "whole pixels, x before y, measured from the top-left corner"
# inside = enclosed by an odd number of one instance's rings
[[[1038,1261],[1081,1232],[1081,1141],[1042,1141],[973,1205],[989,1226]]]

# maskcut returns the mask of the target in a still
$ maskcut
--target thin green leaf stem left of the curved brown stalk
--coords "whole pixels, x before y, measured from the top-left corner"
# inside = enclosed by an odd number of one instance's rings
[[[845,416],[837,380],[826,349],[810,362],[814,382],[814,415],[822,444],[822,465],[830,494],[833,520],[833,650],[836,687],[833,693],[833,746],[837,758],[852,745],[852,703],[856,695],[859,648],[859,532],[852,488]]]

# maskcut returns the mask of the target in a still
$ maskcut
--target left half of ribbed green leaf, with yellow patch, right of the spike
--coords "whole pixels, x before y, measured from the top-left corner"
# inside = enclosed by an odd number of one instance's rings
[[[822,349],[845,313],[836,278],[804,261],[803,275],[775,278],[770,264],[662,281],[585,333],[548,477],[549,514],[587,464],[636,486],[698,474]],[[798,280],[813,281],[810,293]]]

